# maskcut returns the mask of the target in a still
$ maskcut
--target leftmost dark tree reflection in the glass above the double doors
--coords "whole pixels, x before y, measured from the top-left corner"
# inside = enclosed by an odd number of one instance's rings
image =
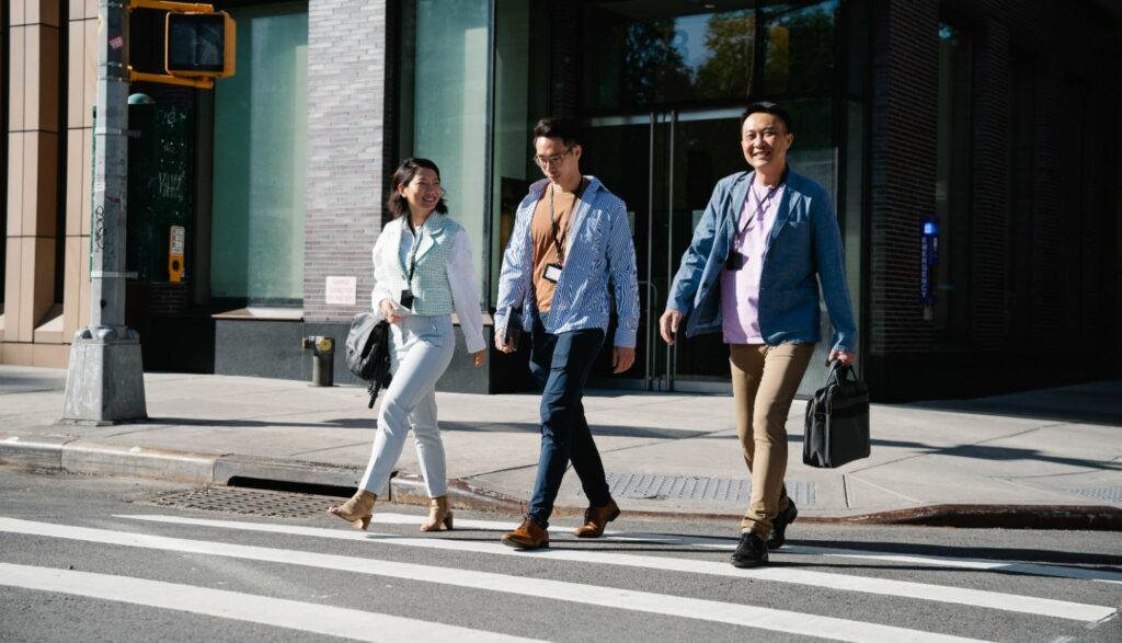
[[[673,20],[632,22],[624,37],[625,85],[636,103],[689,95],[692,82],[682,53],[672,44]]]

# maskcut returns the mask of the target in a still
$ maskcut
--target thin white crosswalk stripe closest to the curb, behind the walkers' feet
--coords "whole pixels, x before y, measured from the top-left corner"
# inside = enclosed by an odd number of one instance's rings
[[[392,525],[408,525],[416,524],[417,516],[410,514],[375,514],[374,523],[377,524],[392,524]],[[511,523],[502,523],[497,521],[477,521],[477,520],[457,520],[456,524],[460,529],[469,530],[485,530],[485,531],[509,531],[513,526]],[[550,525],[551,533],[563,533],[571,532],[573,527],[561,526],[561,525]],[[720,550],[732,550],[736,546],[736,541],[734,539],[723,539],[714,536],[683,536],[673,534],[659,534],[659,533],[643,533],[643,532],[620,532],[620,531],[606,531],[604,535],[607,540],[616,541],[642,541],[642,542],[659,542],[659,543],[672,543],[690,546],[703,546],[709,549],[720,549]],[[804,555],[822,555],[822,557],[837,557],[837,558],[848,558],[848,559],[862,559],[862,560],[879,560],[883,562],[903,562],[908,564],[926,564],[931,567],[951,567],[959,569],[976,569],[982,571],[1001,571],[1006,573],[1021,573],[1027,576],[1048,576],[1052,578],[1070,578],[1075,580],[1094,580],[1097,582],[1110,582],[1122,585],[1122,572],[1104,570],[1104,569],[1087,569],[1087,568],[1073,568],[1073,567],[1061,567],[1051,564],[1039,564],[1039,563],[1026,563],[1009,560],[986,560],[986,559],[973,559],[973,558],[954,558],[946,555],[930,555],[930,554],[901,554],[888,551],[867,551],[867,550],[855,550],[855,549],[843,549],[843,548],[825,548],[825,546],[809,546],[809,545],[797,545],[790,544],[783,546],[784,554],[804,554]]]

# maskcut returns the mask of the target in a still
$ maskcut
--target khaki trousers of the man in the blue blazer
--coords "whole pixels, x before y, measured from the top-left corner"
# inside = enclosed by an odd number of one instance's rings
[[[741,531],[751,531],[766,540],[772,520],[791,504],[783,485],[787,415],[815,345],[733,343],[728,348],[736,432],[752,474],[752,500],[741,521]]]

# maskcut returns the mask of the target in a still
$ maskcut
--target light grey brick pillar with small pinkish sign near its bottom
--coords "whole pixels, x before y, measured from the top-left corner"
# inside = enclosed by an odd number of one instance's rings
[[[385,181],[386,25],[384,0],[309,2],[307,321],[347,320],[370,306]],[[328,276],[358,277],[355,306],[324,303]]]

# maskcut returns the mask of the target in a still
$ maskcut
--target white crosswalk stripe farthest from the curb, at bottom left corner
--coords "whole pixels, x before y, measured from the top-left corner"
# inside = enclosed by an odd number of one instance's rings
[[[260,623],[358,641],[525,641],[456,625],[223,589],[0,562],[0,585]]]

